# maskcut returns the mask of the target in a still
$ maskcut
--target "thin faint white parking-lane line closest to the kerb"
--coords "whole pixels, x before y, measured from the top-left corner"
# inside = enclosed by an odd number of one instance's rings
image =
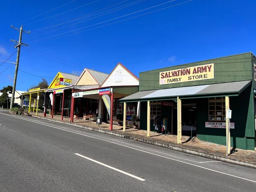
[[[15,117],[15,116],[13,116],[13,117]],[[20,119],[25,119],[26,120],[26,118],[20,118]],[[40,121],[35,121],[35,120],[32,120],[32,121],[33,122],[40,122]],[[47,124],[47,125],[52,125],[52,124]],[[56,125],[52,125],[52,126],[56,126]],[[67,130],[76,131],[76,130],[73,130],[73,129],[70,129],[70,128],[65,128],[65,127],[58,127],[58,128],[64,128],[64,129],[67,129]],[[163,152],[160,152],[160,151],[155,151],[155,150],[144,148],[144,147],[140,147],[140,146],[137,146],[137,145],[132,145],[130,143],[121,142],[121,141],[134,141],[134,140],[113,140],[113,139],[108,139],[106,137],[97,136],[97,135],[94,135],[94,134],[84,133],[82,131],[76,131],[76,132],[79,132],[79,133],[82,133],[82,134],[87,134],[87,135],[92,135],[94,137],[99,137],[99,138],[103,138],[103,139],[107,139],[107,140],[111,140],[111,141],[116,141],[116,142],[119,142],[119,143],[124,143],[126,145],[131,145],[131,146],[134,146],[134,147],[143,148],[143,149],[148,150],[148,151],[154,151],[156,153],[165,154],[165,155],[168,155],[168,156],[171,156],[171,157],[176,157],[176,158],[179,158],[179,159],[183,159],[183,160],[187,160],[187,161],[191,161],[191,162],[195,162],[195,163],[210,163],[209,161],[198,162],[198,161],[194,161],[194,160],[189,160],[189,159],[186,159],[186,158],[177,157],[175,155],[166,154],[166,153],[163,153]],[[221,161],[212,161],[212,162],[221,162]]]

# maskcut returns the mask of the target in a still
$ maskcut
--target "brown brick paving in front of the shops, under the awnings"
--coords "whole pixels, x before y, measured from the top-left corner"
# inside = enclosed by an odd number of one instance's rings
[[[32,113],[32,116],[35,116],[35,114]],[[43,113],[38,113],[38,117],[43,117]],[[45,118],[51,119],[51,116],[47,114],[47,117]],[[61,121],[61,116],[55,115],[53,117],[53,120]],[[63,118],[63,122],[70,123],[70,119]],[[86,121],[83,119],[74,119],[73,124],[109,131],[109,124],[105,122],[102,122],[102,125],[98,127],[98,125],[96,125],[96,122]],[[167,145],[172,145],[174,147],[182,148],[183,151],[184,150],[197,151],[203,154],[218,156],[225,159],[230,159],[230,160],[244,162],[244,163],[250,163],[256,166],[255,151],[248,151],[248,150],[242,150],[242,149],[236,148],[232,151],[232,154],[226,157],[226,146],[201,141],[201,140],[198,140],[198,138],[195,138],[192,141],[190,140],[190,137],[182,136],[183,143],[177,144],[176,135],[164,135],[164,134],[154,133],[151,131],[151,137],[147,137],[147,131],[145,130],[126,128],[126,131],[123,132],[122,126],[118,126],[118,125],[113,125],[113,130],[111,132],[117,133],[117,134],[123,134],[125,136],[129,136],[133,138],[139,138],[139,140],[146,140],[146,143],[152,143],[152,142],[163,143]]]

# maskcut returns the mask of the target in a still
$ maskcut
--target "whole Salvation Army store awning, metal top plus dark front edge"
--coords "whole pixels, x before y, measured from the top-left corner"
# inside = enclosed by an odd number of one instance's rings
[[[235,81],[228,83],[206,84],[190,87],[176,87],[160,90],[139,91],[125,98],[119,99],[120,102],[139,102],[149,100],[174,99],[179,96],[181,99],[193,97],[211,96],[238,96],[248,85],[249,81]]]

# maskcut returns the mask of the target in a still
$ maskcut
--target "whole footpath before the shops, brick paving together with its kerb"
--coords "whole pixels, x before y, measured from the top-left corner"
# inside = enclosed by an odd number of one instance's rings
[[[182,151],[189,154],[195,154],[202,157],[207,157],[214,160],[220,160],[227,163],[234,163],[243,166],[250,166],[256,168],[256,152],[235,148],[232,153],[226,157],[226,146],[218,145],[215,143],[209,143],[194,138],[190,140],[188,136],[182,136],[182,144],[177,144],[177,136],[164,135],[151,132],[151,137],[147,137],[147,131],[126,128],[123,132],[123,128],[118,125],[113,125],[113,130],[109,130],[109,124],[102,122],[102,125],[98,127],[96,122],[86,121],[83,119],[74,119],[73,123],[70,123],[70,118],[63,118],[60,116],[54,116],[53,119],[47,114],[47,117],[43,117],[43,113],[38,113],[36,116],[31,113],[32,116],[41,119],[48,119],[50,121],[57,121],[67,125],[72,125],[79,128],[88,129],[91,131],[97,131],[100,133],[111,134],[117,137],[123,137],[131,140],[148,143],[151,145],[157,145],[164,148],[173,149],[176,151]]]

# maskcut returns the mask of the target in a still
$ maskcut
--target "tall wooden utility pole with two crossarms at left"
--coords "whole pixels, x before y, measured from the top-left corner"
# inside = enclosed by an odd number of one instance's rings
[[[11,27],[12,27],[12,29],[16,29],[16,30],[20,31],[20,38],[19,38],[19,41],[14,41],[14,40],[11,39],[11,41],[17,43],[17,45],[15,46],[15,48],[18,48],[18,50],[17,50],[17,60],[16,60],[14,81],[13,81],[13,87],[12,87],[12,100],[11,100],[10,109],[12,109],[13,102],[14,102],[14,95],[15,95],[15,89],[16,89],[17,74],[18,74],[19,62],[20,62],[20,47],[21,47],[21,45],[29,46],[28,44],[23,44],[23,43],[21,42],[21,40],[22,40],[22,33],[23,33],[23,32],[25,32],[25,33],[30,33],[30,31],[29,31],[29,32],[23,31],[23,25],[20,27],[20,29],[17,29],[17,28],[15,28],[15,27],[13,27],[12,25],[11,25]]]

